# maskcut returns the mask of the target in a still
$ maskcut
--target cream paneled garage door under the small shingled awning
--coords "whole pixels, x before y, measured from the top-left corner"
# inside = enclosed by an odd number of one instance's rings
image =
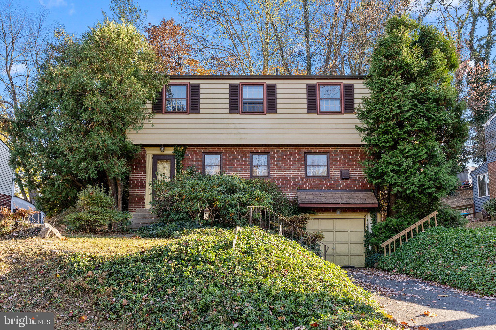
[[[338,266],[365,267],[365,215],[345,216],[315,214],[307,232],[324,233],[322,243],[329,249],[326,260]]]

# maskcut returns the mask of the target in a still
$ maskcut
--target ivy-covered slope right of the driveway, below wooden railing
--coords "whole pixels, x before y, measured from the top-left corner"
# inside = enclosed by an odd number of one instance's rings
[[[496,294],[496,227],[436,227],[381,257],[379,268],[484,295]]]

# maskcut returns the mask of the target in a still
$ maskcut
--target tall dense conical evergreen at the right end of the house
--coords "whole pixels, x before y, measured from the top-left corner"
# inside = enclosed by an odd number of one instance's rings
[[[372,52],[370,96],[357,126],[371,159],[365,174],[383,198],[382,216],[424,216],[458,183],[467,126],[457,104],[455,47],[432,26],[393,17]],[[387,211],[387,212],[386,212]]]

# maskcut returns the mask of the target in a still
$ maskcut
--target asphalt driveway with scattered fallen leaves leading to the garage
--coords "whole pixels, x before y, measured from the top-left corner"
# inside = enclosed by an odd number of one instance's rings
[[[482,298],[447,285],[375,269],[347,271],[356,284],[375,294],[374,299],[386,313],[410,327],[496,330],[496,297]]]

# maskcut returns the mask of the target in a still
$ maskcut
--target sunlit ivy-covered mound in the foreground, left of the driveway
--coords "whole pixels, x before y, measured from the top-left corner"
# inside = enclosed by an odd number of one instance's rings
[[[393,328],[369,292],[297,242],[256,227],[234,249],[233,239],[232,230],[186,230],[130,255],[70,255],[61,271],[78,284],[66,292],[91,294],[132,329]]]

